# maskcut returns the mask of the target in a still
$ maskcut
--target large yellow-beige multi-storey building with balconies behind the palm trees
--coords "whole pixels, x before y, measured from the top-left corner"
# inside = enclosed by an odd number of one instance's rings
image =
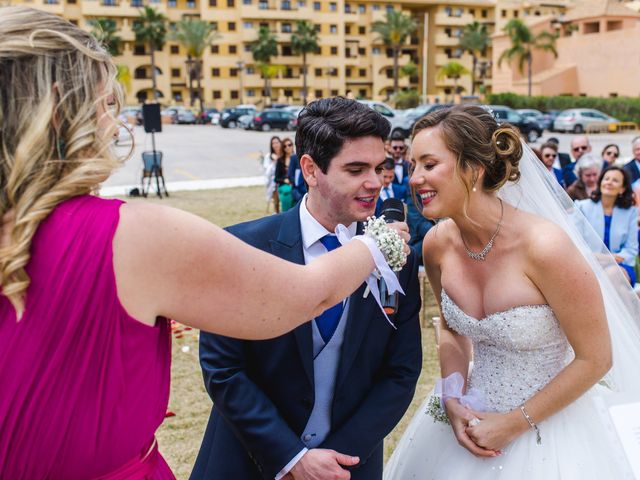
[[[400,65],[413,62],[417,72],[411,77],[401,77],[400,87],[416,89],[424,100],[448,101],[454,93],[454,82],[440,79],[437,74],[452,60],[471,69],[471,56],[459,46],[465,25],[478,21],[487,25],[490,34],[499,34],[511,18],[551,18],[565,14],[575,4],[590,1],[574,0],[570,4],[568,0],[5,0],[4,3],[55,13],[85,29],[90,29],[91,19],[115,20],[123,40],[121,55],[115,60],[126,65],[132,77],[127,91],[129,105],[153,97],[150,57],[145,46],[135,42],[132,30],[139,9],[150,5],[165,14],[171,24],[184,17],[211,22],[220,38],[204,56],[202,87],[205,104],[220,108],[239,103],[263,104],[264,81],[251,54],[252,42],[261,26],[275,32],[279,43],[279,54],[272,63],[281,69],[271,81],[272,101],[301,103],[302,57],[291,50],[291,33],[296,21],[303,19],[316,25],[320,44],[320,53],[308,55],[309,98],[350,95],[385,100],[393,90],[393,58],[371,26],[384,20],[388,10],[402,10],[415,18],[418,28],[402,49]],[[489,48],[480,58],[478,70],[483,71],[487,92],[495,90],[493,77],[499,54]],[[158,90],[165,105],[189,101],[186,60],[185,49],[172,41],[167,41],[163,50],[156,53]],[[507,74],[501,71],[500,75],[502,84],[510,86]],[[463,76],[458,85],[463,95],[471,93],[469,75]]]

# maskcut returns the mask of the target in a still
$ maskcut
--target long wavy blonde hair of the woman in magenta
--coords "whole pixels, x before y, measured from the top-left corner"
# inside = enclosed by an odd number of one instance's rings
[[[25,308],[25,271],[40,223],[64,200],[91,193],[121,165],[99,133],[98,107],[122,93],[109,54],[87,32],[55,15],[0,8],[0,286]],[[104,130],[102,127],[101,130]],[[109,131],[109,129],[107,129]]]

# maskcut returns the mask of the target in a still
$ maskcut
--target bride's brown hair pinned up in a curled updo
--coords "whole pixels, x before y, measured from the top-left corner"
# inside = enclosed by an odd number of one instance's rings
[[[413,136],[422,130],[438,127],[447,148],[457,158],[458,172],[468,169],[485,171],[482,188],[494,192],[507,181],[520,178],[518,163],[522,157],[520,133],[509,124],[498,125],[493,115],[476,105],[456,105],[433,112],[420,119]],[[467,193],[473,185],[467,186]]]

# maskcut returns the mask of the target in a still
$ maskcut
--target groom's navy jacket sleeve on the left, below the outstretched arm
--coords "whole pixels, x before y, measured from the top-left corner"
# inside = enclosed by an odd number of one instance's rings
[[[273,479],[305,445],[247,375],[245,348],[242,340],[201,332],[200,365],[214,408],[264,478]]]

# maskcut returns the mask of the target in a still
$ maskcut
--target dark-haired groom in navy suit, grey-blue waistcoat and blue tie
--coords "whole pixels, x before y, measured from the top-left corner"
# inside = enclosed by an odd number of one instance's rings
[[[384,117],[356,101],[311,103],[296,133],[308,194],[286,213],[229,231],[300,264],[332,250],[337,224],[355,234],[374,212],[388,132]],[[273,340],[202,332],[214,405],[191,479],[380,479],[383,439],[411,402],[422,363],[417,268],[411,254],[400,272],[406,296],[390,317],[397,329],[372,295],[363,298],[363,284]]]

